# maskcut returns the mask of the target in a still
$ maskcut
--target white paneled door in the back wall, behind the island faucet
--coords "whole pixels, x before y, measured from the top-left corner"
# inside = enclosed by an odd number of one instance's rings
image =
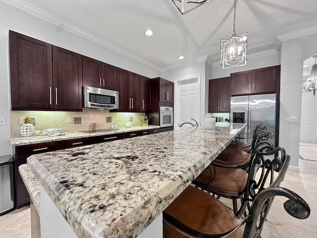
[[[178,123],[194,120],[200,122],[200,103],[199,103],[199,82],[198,76],[192,78],[184,78],[176,80],[176,95],[175,95],[175,122],[174,128],[178,129]],[[184,124],[183,127],[191,127],[189,124]]]

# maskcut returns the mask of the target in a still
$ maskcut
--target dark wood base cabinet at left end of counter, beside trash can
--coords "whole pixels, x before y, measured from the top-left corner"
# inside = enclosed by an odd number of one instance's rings
[[[19,166],[26,164],[26,159],[30,155],[49,152],[59,149],[59,142],[47,142],[33,145],[22,145],[14,147],[14,174],[15,174],[15,194],[16,208],[21,208],[30,204],[30,195],[24,185],[19,173]]]

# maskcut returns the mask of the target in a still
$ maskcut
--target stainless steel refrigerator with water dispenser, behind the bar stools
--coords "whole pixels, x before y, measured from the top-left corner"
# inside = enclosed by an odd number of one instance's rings
[[[250,96],[231,97],[230,122],[247,123],[244,132],[251,143],[253,130],[257,124],[267,125],[267,130],[273,131],[271,142],[278,146],[278,123],[279,123],[278,97],[274,94],[261,94]]]

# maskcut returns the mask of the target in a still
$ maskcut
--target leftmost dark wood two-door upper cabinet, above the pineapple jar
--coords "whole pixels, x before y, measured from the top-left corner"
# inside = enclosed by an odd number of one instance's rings
[[[9,31],[12,110],[82,111],[82,56]]]

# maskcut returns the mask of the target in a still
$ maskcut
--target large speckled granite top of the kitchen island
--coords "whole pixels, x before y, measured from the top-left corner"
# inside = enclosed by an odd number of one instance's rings
[[[32,155],[28,166],[78,237],[135,238],[244,126],[180,129]]]

